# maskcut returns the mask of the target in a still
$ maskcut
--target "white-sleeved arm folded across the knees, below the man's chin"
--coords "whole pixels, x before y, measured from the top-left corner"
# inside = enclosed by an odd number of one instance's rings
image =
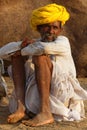
[[[65,37],[59,37],[53,42],[34,42],[21,50],[22,55],[67,55],[71,53],[69,41]]]

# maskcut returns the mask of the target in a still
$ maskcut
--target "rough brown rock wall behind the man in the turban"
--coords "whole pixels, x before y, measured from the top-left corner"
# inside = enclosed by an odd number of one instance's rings
[[[64,27],[70,39],[79,77],[87,77],[87,0],[0,0],[0,46],[24,37],[37,37],[29,18],[33,9],[48,3],[64,5],[71,14]]]

